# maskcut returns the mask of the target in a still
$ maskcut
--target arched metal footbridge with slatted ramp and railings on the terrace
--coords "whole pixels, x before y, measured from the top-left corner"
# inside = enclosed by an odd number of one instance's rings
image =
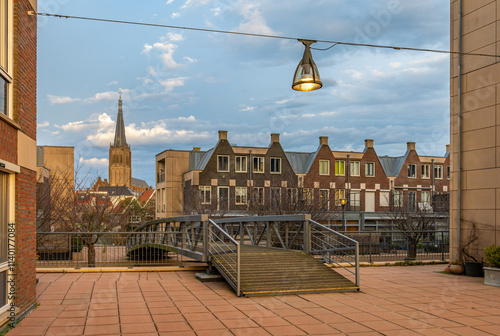
[[[238,296],[359,290],[358,242],[310,215],[169,217],[135,232],[127,242],[130,259],[174,252],[206,262]]]

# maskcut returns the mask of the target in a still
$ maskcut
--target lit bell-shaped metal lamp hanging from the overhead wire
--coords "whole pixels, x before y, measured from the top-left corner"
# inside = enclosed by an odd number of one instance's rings
[[[313,91],[320,89],[323,86],[319,77],[318,68],[314,63],[311,55],[311,44],[315,41],[299,40],[304,46],[304,56],[300,61],[295,74],[293,76],[292,89],[297,91]]]

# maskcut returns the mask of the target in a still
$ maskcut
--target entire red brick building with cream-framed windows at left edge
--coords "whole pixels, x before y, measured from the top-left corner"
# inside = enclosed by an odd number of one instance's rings
[[[33,308],[36,300],[37,18],[29,12],[36,12],[37,3],[0,0],[0,9],[0,325],[3,326],[11,317],[19,317]],[[14,262],[13,266],[9,262]],[[14,282],[8,284],[12,279]]]

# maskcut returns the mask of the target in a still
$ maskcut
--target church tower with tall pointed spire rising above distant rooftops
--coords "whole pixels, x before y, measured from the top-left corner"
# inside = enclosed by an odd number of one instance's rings
[[[109,185],[128,187],[132,185],[132,154],[125,137],[121,90],[118,100],[115,141],[109,146]]]

